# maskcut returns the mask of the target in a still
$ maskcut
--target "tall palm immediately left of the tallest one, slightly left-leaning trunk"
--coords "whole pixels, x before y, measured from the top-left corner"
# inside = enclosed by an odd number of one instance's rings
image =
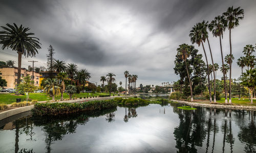
[[[220,47],[221,47],[221,59],[222,59],[222,69],[224,69],[224,58],[223,58],[223,52],[222,52],[222,44],[221,44],[221,38],[223,38],[223,33],[226,30],[227,27],[227,21],[225,20],[224,16],[217,16],[214,18],[214,20],[211,21],[208,28],[212,32],[212,35],[214,37],[220,38]],[[226,75],[223,71],[223,80],[224,80],[224,90],[225,90],[225,103],[227,104],[227,83],[226,83]]]

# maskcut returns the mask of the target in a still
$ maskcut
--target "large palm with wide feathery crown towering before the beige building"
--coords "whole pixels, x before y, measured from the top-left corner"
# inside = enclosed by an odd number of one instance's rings
[[[3,31],[0,31],[0,44],[3,44],[2,49],[11,48],[18,54],[18,76],[17,84],[20,83],[20,72],[22,69],[22,55],[25,57],[34,57],[38,54],[37,49],[40,49],[39,39],[31,37],[34,33],[28,32],[30,29],[20,25],[17,27],[7,23],[7,27],[1,26]]]

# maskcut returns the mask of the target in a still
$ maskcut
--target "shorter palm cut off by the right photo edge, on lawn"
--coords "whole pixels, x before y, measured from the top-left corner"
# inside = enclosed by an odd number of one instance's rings
[[[254,90],[256,86],[256,69],[246,70],[245,73],[242,74],[242,84],[248,87],[251,91]],[[253,94],[251,93],[251,104],[253,104],[252,99]]]

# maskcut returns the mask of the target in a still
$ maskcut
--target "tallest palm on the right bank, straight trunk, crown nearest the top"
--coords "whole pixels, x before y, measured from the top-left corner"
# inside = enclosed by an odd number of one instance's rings
[[[229,7],[226,12],[223,13],[225,19],[228,22],[228,30],[229,30],[229,45],[230,45],[230,56],[232,55],[232,47],[231,47],[231,29],[237,27],[239,25],[239,20],[244,18],[244,10],[240,7],[233,9]],[[230,65],[229,65],[229,103],[231,104],[231,58],[230,58]]]

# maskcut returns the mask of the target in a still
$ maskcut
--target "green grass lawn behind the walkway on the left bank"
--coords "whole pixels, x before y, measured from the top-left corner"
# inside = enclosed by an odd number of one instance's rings
[[[99,96],[99,95],[109,95],[109,93],[91,93],[91,95],[88,93],[88,97],[92,96]],[[111,94],[113,95],[113,94]],[[117,94],[116,94],[117,95]],[[74,94],[72,98],[77,97],[87,97],[87,93],[79,93]],[[22,101],[26,100],[26,94],[25,95],[15,95],[14,93],[0,93],[0,104],[11,104],[13,102],[16,102],[16,98],[22,98]],[[63,93],[63,98],[67,99],[69,98],[69,95],[67,93]],[[45,100],[52,100],[52,97],[47,96],[45,93],[30,93],[29,99],[37,100],[37,101],[45,101]],[[59,96],[56,96],[55,99],[60,99]]]

